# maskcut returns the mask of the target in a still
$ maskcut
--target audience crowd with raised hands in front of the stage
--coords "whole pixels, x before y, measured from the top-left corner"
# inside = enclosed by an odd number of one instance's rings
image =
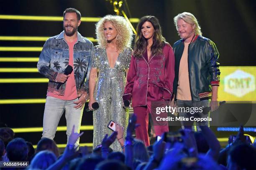
[[[200,126],[200,132],[180,130],[180,139],[172,138],[172,135],[177,133],[169,132],[169,135],[163,135],[154,145],[146,147],[143,141],[133,138],[132,134],[137,127],[136,118],[134,114],[131,116],[125,140],[119,143],[123,148],[122,152],[110,148],[116,138],[123,136],[123,128],[120,125],[110,136],[106,134],[101,144],[92,152],[89,152],[87,147],[78,148],[75,145],[83,133],[75,133],[73,126],[69,142],[62,154],[59,153],[54,140],[42,138],[34,150],[31,143],[22,138],[15,138],[10,128],[0,128],[0,161],[29,161],[29,166],[20,168],[28,170],[256,169],[256,140],[254,143],[246,140],[242,126],[235,140],[222,149],[207,126]]]

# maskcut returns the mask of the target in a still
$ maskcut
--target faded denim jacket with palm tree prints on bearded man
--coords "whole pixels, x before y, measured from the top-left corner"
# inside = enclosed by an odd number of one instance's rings
[[[77,95],[89,92],[90,52],[93,44],[77,32],[77,42],[74,45],[74,78]],[[55,82],[58,73],[64,73],[69,64],[69,46],[64,40],[64,31],[46,40],[37,63],[38,71],[49,79],[48,90],[58,95],[64,95],[66,82],[57,90]],[[85,83],[86,78],[86,83]]]

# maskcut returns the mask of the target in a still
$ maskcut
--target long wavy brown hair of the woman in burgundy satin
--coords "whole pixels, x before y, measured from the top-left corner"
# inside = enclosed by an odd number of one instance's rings
[[[141,27],[146,21],[150,22],[153,25],[155,30],[153,35],[153,44],[151,46],[151,54],[153,56],[162,54],[163,47],[167,43],[161,33],[161,26],[159,24],[159,20],[155,16],[144,16],[141,18],[136,28],[137,35],[135,36],[134,52],[133,52],[133,55],[135,57],[141,57],[148,45],[147,39],[144,38],[141,32]]]

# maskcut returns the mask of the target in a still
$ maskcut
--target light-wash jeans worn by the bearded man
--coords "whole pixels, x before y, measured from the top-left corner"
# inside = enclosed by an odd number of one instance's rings
[[[59,120],[64,111],[66,111],[65,117],[67,120],[67,140],[72,133],[73,125],[75,125],[75,132],[80,132],[80,126],[82,121],[83,110],[75,109],[74,100],[60,100],[55,97],[47,96],[44,108],[44,121],[43,121],[43,134],[42,138],[54,139]],[[79,139],[76,142],[79,145]]]

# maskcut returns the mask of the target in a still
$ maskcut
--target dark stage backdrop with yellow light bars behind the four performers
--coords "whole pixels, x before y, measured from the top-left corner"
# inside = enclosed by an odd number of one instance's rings
[[[159,18],[171,45],[179,40],[174,16],[193,13],[203,36],[215,42],[220,53],[219,99],[256,101],[255,0],[127,0],[125,4],[123,10],[134,19],[134,27],[144,15]],[[0,5],[0,122],[34,145],[41,138],[48,81],[36,64],[45,40],[63,30],[62,14],[68,7],[81,12],[78,30],[94,45],[97,20],[115,14],[108,0],[2,0]],[[66,143],[65,125],[63,116],[55,138],[63,144],[60,147]],[[92,112],[84,111],[81,129],[86,133],[80,142],[91,146]]]

